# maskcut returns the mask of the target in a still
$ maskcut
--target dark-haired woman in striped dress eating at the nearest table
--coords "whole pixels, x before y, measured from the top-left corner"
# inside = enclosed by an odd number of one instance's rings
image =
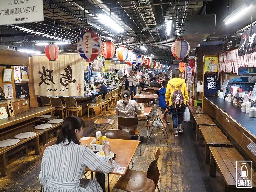
[[[111,147],[103,146],[104,158],[97,156],[87,145],[80,145],[85,122],[71,115],[64,119],[56,145],[46,147],[39,174],[45,192],[102,192],[95,180],[82,179],[85,168],[104,174],[113,169],[116,162],[110,158]]]

